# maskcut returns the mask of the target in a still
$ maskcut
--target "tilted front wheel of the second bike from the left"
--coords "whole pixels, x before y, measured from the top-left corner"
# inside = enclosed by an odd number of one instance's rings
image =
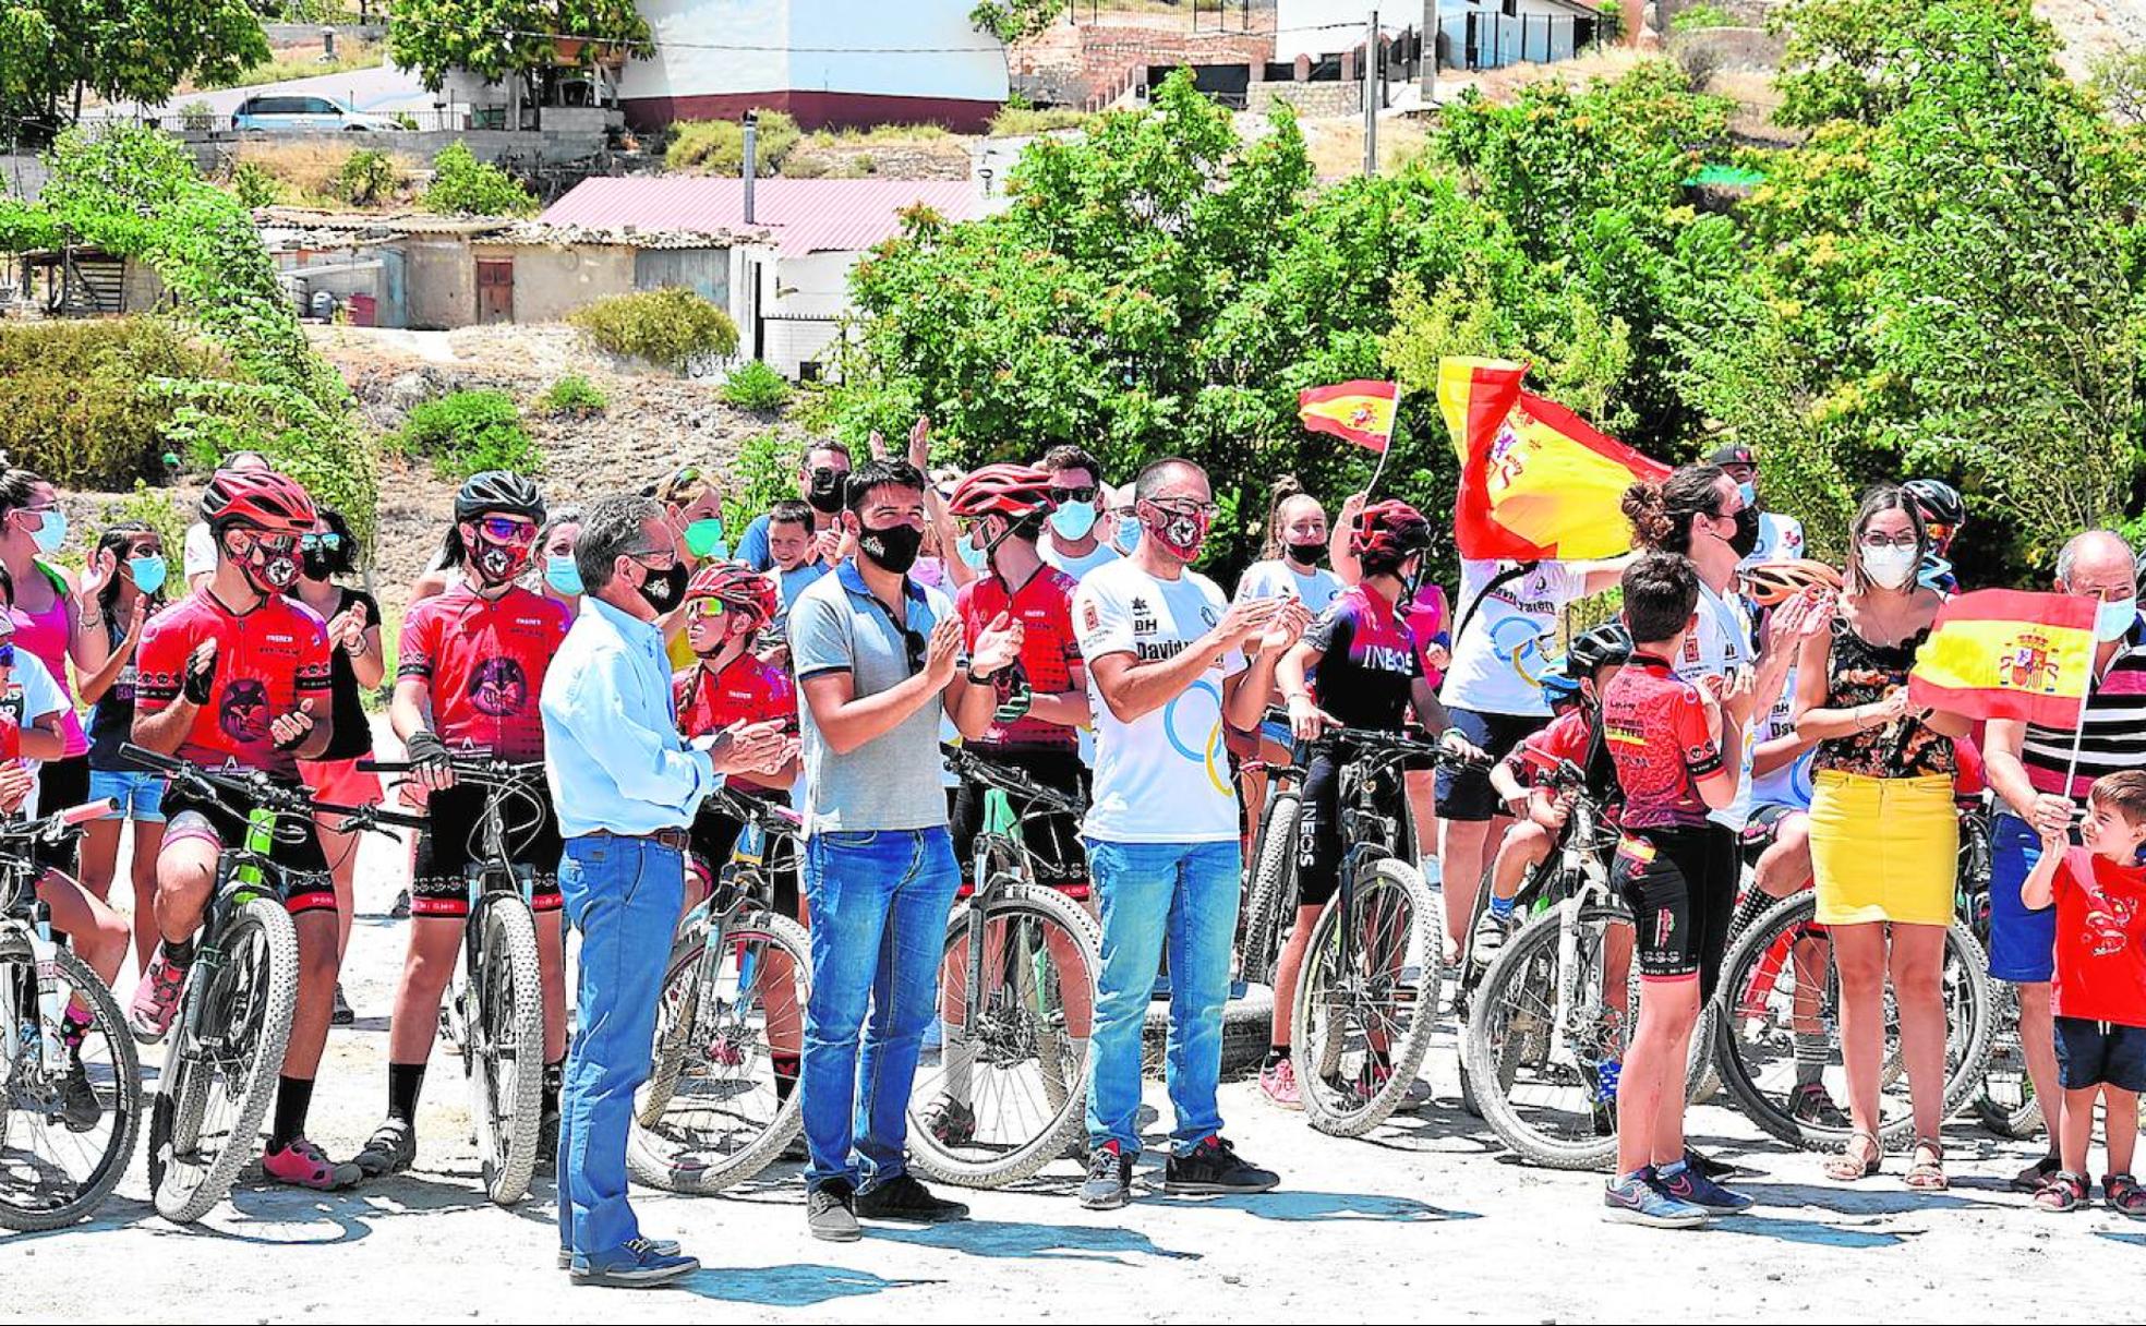
[[[253,1159],[298,1008],[298,931],[283,903],[249,899],[187,976],[178,1036],[148,1120],[157,1212],[202,1219]]]

